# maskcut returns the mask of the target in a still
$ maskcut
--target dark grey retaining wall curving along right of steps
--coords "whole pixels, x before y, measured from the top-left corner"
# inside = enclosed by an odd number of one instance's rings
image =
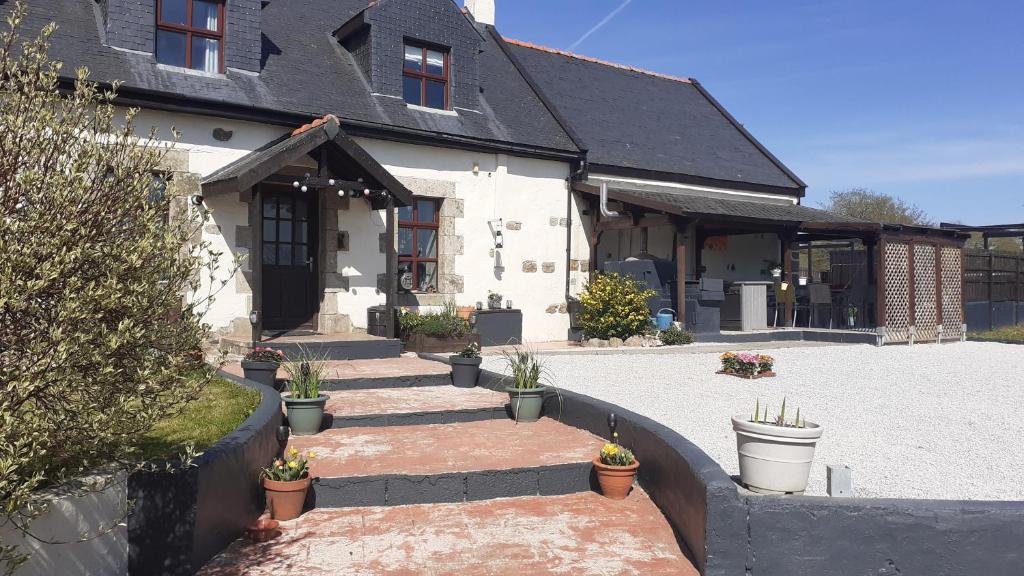
[[[501,378],[484,371],[480,385],[504,389]],[[1024,502],[761,496],[649,418],[567,390],[545,401],[545,414],[602,438],[609,412],[705,576],[1024,574]]]

